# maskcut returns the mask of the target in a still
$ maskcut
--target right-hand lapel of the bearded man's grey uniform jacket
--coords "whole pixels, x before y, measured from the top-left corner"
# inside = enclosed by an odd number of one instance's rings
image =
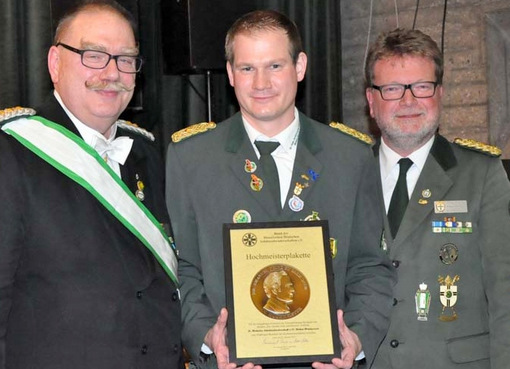
[[[453,186],[448,170],[456,165],[457,159],[450,143],[444,137],[436,135],[425,166],[409,199],[397,237],[393,240],[392,247],[394,250],[398,249],[418,228],[432,227],[431,224],[423,223],[429,214],[434,211],[434,201],[442,200]],[[429,198],[424,198],[422,195],[424,190],[430,191],[431,196]],[[427,203],[420,204],[420,200],[427,200]],[[385,218],[385,225],[387,225],[388,220],[387,217]],[[391,237],[389,234],[386,236]]]

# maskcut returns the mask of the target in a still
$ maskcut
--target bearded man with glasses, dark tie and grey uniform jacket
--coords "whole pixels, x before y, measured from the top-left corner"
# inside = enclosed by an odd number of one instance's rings
[[[373,368],[510,362],[510,185],[499,149],[438,134],[443,55],[418,30],[382,34],[366,67],[385,242],[398,273]]]

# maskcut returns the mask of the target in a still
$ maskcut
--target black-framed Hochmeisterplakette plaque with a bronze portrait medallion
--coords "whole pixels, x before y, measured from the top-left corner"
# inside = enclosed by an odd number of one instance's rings
[[[340,357],[327,221],[224,224],[230,361]]]

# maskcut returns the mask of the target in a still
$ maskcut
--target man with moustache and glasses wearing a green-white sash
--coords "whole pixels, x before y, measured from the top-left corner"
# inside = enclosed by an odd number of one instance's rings
[[[37,111],[0,111],[0,369],[179,368],[154,137],[119,121],[142,59],[109,0],[60,20]]]

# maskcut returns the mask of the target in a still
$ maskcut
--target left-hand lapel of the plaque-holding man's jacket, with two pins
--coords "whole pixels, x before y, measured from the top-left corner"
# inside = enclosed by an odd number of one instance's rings
[[[228,166],[241,183],[241,186],[246,190],[247,196],[255,199],[266,211],[268,217],[274,219],[280,213],[280,209],[267,187],[262,186],[260,191],[255,191],[250,185],[252,175],[261,178],[262,181],[264,180],[263,175],[260,174],[261,171],[255,170],[255,172],[249,173],[245,170],[246,160],[256,165],[258,165],[259,161],[250,143],[248,134],[244,129],[241,114],[235,114],[228,121],[230,121],[230,126],[227,133],[225,151],[232,154]]]

